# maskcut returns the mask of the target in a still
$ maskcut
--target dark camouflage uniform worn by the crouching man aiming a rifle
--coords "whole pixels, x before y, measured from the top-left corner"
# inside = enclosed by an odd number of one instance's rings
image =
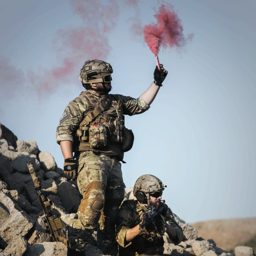
[[[183,239],[182,228],[175,221],[171,209],[164,203],[161,203],[161,205],[164,207],[162,217],[164,217],[165,222],[176,229],[177,239],[172,242],[177,245]],[[126,200],[120,206],[115,232],[116,241],[119,244],[119,256],[163,254],[164,240],[161,234],[154,233],[152,240],[151,234],[143,231],[131,242],[126,242],[127,230],[142,222],[142,216],[145,211],[146,208],[143,204],[135,200]]]

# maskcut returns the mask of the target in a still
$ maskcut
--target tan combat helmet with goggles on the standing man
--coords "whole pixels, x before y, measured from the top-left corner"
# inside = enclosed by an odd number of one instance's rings
[[[110,83],[113,73],[112,66],[102,60],[88,60],[85,61],[81,73],[80,81],[86,83]]]

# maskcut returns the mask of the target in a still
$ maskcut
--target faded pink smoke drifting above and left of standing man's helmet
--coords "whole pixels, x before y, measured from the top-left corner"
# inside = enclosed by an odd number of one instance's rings
[[[30,83],[41,96],[50,93],[65,83],[78,80],[80,69],[89,59],[107,61],[111,47],[107,32],[111,31],[119,16],[117,0],[70,0],[73,13],[81,18],[76,27],[57,31],[53,40],[57,64],[51,69],[30,71]]]

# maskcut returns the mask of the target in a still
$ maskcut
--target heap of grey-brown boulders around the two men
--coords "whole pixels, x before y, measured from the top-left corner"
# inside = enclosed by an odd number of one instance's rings
[[[0,124],[0,256],[65,256],[68,248],[60,242],[50,242],[38,195],[34,189],[27,162],[33,161],[42,192],[52,202],[52,211],[61,217],[65,234],[80,204],[76,182],[67,178],[48,152],[40,152],[35,141],[18,140],[9,129]],[[68,193],[67,193],[68,192]],[[125,199],[134,199],[132,188],[126,190]],[[212,239],[198,237],[197,230],[178,216],[174,216],[184,232],[184,239],[174,245],[164,235],[165,252],[173,256],[232,256],[216,247]],[[93,244],[86,255],[101,256]],[[236,256],[252,256],[253,249],[239,246]]]

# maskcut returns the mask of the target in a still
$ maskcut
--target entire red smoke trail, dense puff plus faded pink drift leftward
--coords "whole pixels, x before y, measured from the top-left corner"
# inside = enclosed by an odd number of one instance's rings
[[[124,6],[133,8],[136,17],[136,27],[133,28],[136,28],[137,34],[143,31],[142,22],[138,19],[140,16],[138,2],[139,0],[122,2]],[[52,59],[49,60],[49,66],[38,67],[37,71],[33,69],[13,72],[11,62],[0,57],[0,69],[3,71],[0,82],[5,81],[3,84],[10,84],[6,86],[6,91],[19,84],[19,89],[37,91],[39,96],[44,96],[45,93],[50,94],[62,88],[63,84],[76,79],[79,83],[80,69],[86,60],[107,61],[111,52],[108,32],[114,29],[119,20],[120,1],[70,0],[70,3],[74,15],[79,16],[81,21],[74,27],[63,27],[56,32],[52,40],[54,52]],[[180,46],[185,42],[180,19],[172,8],[168,4],[160,6],[154,15],[157,23],[144,28],[145,41],[154,54],[157,54],[160,46]],[[10,70],[11,75],[7,75]]]

